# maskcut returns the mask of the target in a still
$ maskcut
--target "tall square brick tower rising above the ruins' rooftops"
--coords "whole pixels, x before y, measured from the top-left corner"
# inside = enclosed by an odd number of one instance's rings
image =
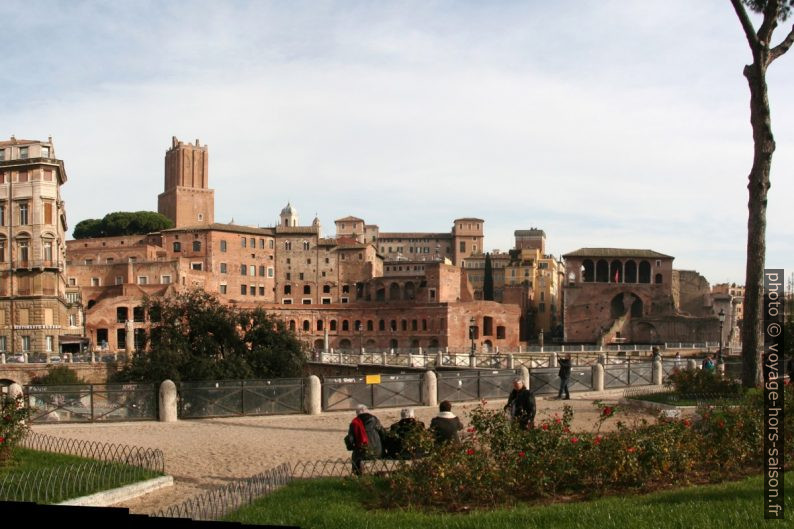
[[[209,189],[207,146],[171,138],[165,153],[165,189],[157,197],[157,211],[177,228],[215,222],[215,191]]]

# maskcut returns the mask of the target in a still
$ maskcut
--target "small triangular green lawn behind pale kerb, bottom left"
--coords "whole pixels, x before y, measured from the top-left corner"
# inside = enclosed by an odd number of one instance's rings
[[[85,468],[79,473],[64,471],[67,467],[85,464],[92,464],[91,471]],[[60,470],[61,477],[52,479],[47,484],[34,484],[30,479],[30,472],[48,470]],[[58,503],[161,475],[159,472],[122,463],[17,448],[14,450],[14,459],[0,466],[0,501]]]

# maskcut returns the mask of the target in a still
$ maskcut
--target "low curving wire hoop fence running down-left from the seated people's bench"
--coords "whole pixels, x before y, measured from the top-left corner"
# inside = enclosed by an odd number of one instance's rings
[[[370,474],[385,474],[394,471],[401,464],[405,462],[364,461],[363,471]],[[179,505],[163,509],[155,516],[217,520],[289,484],[292,480],[351,475],[353,475],[352,461],[349,458],[297,463],[293,467],[289,463],[284,463],[256,476],[207,491]]]

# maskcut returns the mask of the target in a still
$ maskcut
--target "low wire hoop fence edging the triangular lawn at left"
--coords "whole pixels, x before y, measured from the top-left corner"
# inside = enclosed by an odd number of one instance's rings
[[[68,439],[36,432],[28,432],[20,445],[40,452],[68,454],[97,461],[124,463],[154,472],[165,471],[165,458],[162,450],[159,449]]]

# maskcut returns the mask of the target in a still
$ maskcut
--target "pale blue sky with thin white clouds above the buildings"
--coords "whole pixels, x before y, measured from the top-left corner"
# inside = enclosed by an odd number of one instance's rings
[[[0,19],[0,137],[52,136],[71,227],[156,210],[176,136],[209,146],[217,222],[270,226],[288,201],[328,235],[478,217],[486,250],[535,227],[555,256],[647,248],[744,283],[751,56],[727,0],[27,0]],[[792,271],[794,50],[767,79],[766,263]]]

